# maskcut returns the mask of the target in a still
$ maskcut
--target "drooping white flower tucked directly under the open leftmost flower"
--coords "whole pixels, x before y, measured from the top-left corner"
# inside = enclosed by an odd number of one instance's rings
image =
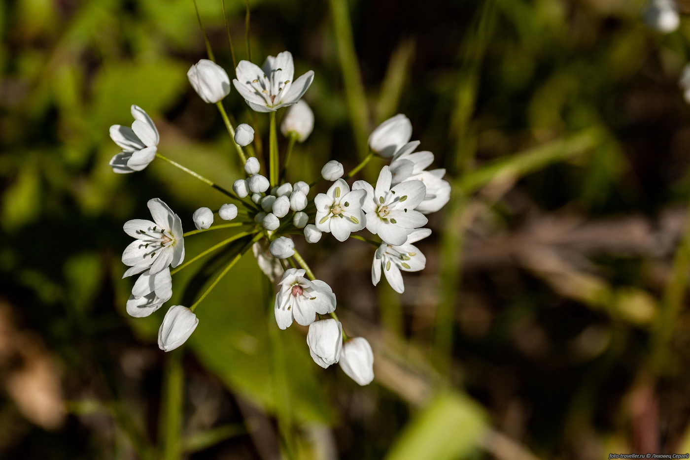
[[[127,313],[131,317],[148,317],[172,297],[172,277],[170,268],[156,274],[150,270],[139,275],[134,283],[132,295],[127,301]]]

